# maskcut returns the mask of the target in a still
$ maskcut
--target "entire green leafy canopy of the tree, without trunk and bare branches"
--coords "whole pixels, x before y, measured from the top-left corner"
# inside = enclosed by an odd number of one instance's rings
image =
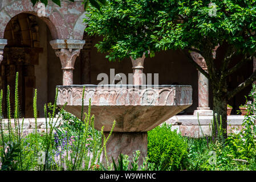
[[[222,43],[255,51],[256,1],[109,0],[92,7],[86,31],[109,60],[161,49],[214,49]]]

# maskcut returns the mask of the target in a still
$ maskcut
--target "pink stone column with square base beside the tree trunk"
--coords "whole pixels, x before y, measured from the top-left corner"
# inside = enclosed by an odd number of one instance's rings
[[[207,66],[204,57],[197,52],[192,52],[193,60],[207,72]],[[194,115],[213,115],[213,110],[209,107],[209,83],[200,71],[198,71],[198,107],[194,110]]]

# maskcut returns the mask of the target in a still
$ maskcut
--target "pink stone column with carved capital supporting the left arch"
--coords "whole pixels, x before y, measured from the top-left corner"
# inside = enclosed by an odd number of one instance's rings
[[[83,48],[85,40],[51,40],[50,44],[60,58],[63,70],[63,85],[73,84],[73,70],[76,57]]]

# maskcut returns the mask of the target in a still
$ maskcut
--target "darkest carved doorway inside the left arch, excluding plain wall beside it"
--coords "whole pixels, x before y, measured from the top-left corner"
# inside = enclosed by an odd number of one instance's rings
[[[1,63],[1,89],[4,98],[7,85],[10,86],[10,104],[14,106],[15,75],[19,73],[19,117],[33,117],[32,96],[35,89],[35,65],[38,65],[39,53],[43,48],[39,45],[39,27],[31,14],[18,14],[7,24],[4,38],[7,45]],[[5,102],[3,102],[5,103]],[[6,107],[3,107],[6,117]],[[11,108],[13,110],[13,108]]]

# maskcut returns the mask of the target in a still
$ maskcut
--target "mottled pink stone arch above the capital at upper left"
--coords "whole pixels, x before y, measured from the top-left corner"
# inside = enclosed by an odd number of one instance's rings
[[[3,7],[0,10],[0,39],[3,38],[5,27],[11,18],[21,13],[38,16],[38,12],[40,12],[38,4],[33,7],[30,0],[14,0],[11,3],[3,0],[2,5]],[[80,38],[79,40],[82,40],[83,32],[79,35],[81,31],[78,30],[82,28],[82,31],[84,31],[82,25],[82,17],[84,16],[82,1],[74,3],[62,1],[62,7],[49,2],[45,10],[45,16],[38,17],[46,22],[53,39]],[[74,29],[75,33],[73,33]]]

